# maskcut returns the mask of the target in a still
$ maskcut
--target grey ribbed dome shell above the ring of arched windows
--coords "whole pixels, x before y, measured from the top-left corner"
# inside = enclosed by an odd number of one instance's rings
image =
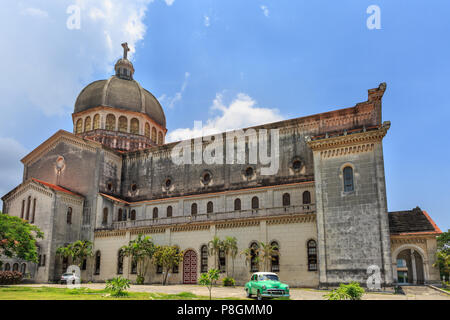
[[[146,113],[166,127],[166,116],[158,100],[135,80],[112,76],[88,84],[78,95],[74,113],[98,106]]]

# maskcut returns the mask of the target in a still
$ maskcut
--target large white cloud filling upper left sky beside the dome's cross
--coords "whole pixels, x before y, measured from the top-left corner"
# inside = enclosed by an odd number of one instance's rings
[[[46,115],[72,112],[83,86],[93,80],[94,72],[113,73],[122,54],[120,44],[128,42],[133,56],[144,38],[144,17],[153,0],[61,0],[42,2],[31,8],[10,1],[0,10],[2,42],[0,60],[8,80],[0,85],[5,117],[18,117],[38,109]],[[67,28],[69,5],[80,8],[80,29]],[[38,19],[39,17],[40,19]],[[42,19],[46,18],[46,19]],[[2,109],[6,109],[3,108]]]

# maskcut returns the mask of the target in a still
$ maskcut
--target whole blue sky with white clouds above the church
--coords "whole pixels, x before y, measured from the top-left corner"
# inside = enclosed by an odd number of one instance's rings
[[[66,27],[72,4],[80,29]],[[366,26],[372,4],[379,30]],[[195,120],[227,129],[350,107],[386,82],[388,208],[420,206],[446,230],[449,11],[448,1],[406,0],[9,2],[0,12],[0,193],[20,183],[20,158],[72,130],[77,94],[113,73],[128,41],[135,78],[160,98],[174,140]]]

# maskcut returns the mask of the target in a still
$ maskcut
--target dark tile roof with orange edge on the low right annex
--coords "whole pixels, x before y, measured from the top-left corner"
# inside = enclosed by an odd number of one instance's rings
[[[389,231],[391,234],[442,232],[428,213],[419,207],[412,210],[389,212]]]

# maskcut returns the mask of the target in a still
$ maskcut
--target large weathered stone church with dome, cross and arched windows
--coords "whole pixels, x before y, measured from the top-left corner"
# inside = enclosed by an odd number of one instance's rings
[[[369,268],[380,271],[386,286],[439,281],[433,264],[441,231],[430,215],[419,207],[388,212],[385,83],[353,107],[245,128],[246,159],[249,141],[257,140],[252,132],[278,130],[273,175],[250,161],[176,164],[172,153],[180,142],[165,142],[164,110],[134,79],[123,47],[115,75],[78,95],[73,132],[56,132],[21,160],[23,181],[3,196],[3,213],[37,225],[45,237],[38,239],[38,264],[2,259],[3,270],[57,281],[71,263],[57,248],[81,239],[92,241],[94,252],[82,265],[84,281],[118,275],[135,281],[136,267],[120,248],[143,234],[184,252],[168,282],[192,284],[217,264],[208,242],[231,236],[239,252],[276,245],[266,271],[292,287],[365,284]],[[227,133],[219,136],[226,141]],[[218,260],[221,270],[234,266],[238,284],[263,271],[239,254],[232,261],[221,252]],[[150,265],[145,282],[162,277]]]

